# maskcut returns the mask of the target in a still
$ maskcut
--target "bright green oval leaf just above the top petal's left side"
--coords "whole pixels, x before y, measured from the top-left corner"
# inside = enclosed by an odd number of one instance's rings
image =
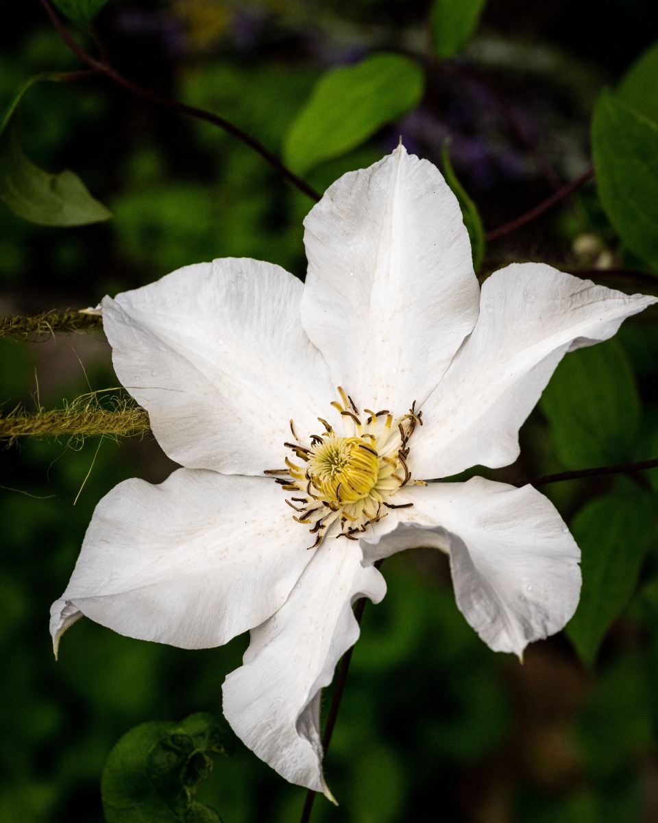
[[[374,54],[356,66],[331,69],[290,125],[285,164],[304,174],[345,154],[413,109],[423,87],[422,68],[400,54]]]

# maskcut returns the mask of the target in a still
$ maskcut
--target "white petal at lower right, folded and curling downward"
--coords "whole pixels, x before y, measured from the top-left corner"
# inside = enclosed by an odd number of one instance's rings
[[[362,541],[364,556],[374,562],[411,546],[448,551],[457,606],[494,651],[521,655],[576,611],[580,551],[557,509],[532,486],[473,477],[398,496],[413,508],[384,518],[379,542]]]

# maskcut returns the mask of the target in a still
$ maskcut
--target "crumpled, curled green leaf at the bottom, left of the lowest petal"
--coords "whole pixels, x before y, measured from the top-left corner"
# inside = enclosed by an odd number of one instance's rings
[[[141,723],[105,761],[100,790],[108,823],[220,823],[194,800],[212,770],[209,753],[231,756],[235,737],[224,718],[206,712],[182,723]]]

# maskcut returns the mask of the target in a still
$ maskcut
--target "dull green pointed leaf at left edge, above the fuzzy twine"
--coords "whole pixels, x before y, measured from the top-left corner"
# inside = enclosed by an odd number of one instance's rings
[[[16,134],[0,138],[0,200],[40,226],[86,226],[112,216],[71,170],[50,174],[23,153]]]

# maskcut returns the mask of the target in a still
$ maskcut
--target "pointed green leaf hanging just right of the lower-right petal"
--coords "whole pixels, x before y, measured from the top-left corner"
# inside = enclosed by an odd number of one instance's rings
[[[591,666],[656,543],[656,496],[642,490],[604,495],[578,512],[571,529],[582,551],[582,591],[567,634]]]

